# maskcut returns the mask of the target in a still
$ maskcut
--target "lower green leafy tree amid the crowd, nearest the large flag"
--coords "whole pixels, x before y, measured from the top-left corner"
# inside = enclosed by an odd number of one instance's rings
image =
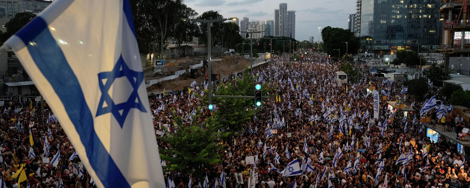
[[[199,113],[192,118],[198,119]],[[181,117],[175,117],[175,125],[172,127],[175,131],[167,131],[167,136],[157,137],[158,141],[164,143],[159,148],[160,158],[167,162],[170,171],[180,171],[202,179],[205,176],[204,168],[220,162],[222,145],[216,143],[227,133],[221,133],[220,124],[215,121],[212,116],[199,125],[196,125],[196,121],[186,125]]]

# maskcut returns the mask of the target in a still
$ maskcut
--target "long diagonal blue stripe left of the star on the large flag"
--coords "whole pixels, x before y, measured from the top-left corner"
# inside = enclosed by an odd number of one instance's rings
[[[16,36],[23,40],[39,71],[63,102],[67,115],[80,135],[89,162],[102,180],[103,186],[130,188],[124,175],[96,135],[93,115],[88,109],[78,78],[65,59],[62,49],[47,29],[47,23],[38,16],[16,33]],[[31,46],[30,41],[34,41],[37,45]],[[63,75],[67,75],[68,78],[64,79]]]

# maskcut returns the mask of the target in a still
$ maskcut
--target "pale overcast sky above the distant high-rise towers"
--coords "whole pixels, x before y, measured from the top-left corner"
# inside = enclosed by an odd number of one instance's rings
[[[318,26],[347,29],[348,14],[356,13],[356,0],[185,0],[201,15],[205,11],[218,11],[224,17],[249,16],[250,21],[274,20],[274,9],[287,3],[287,10],[296,11],[296,39],[318,40]]]

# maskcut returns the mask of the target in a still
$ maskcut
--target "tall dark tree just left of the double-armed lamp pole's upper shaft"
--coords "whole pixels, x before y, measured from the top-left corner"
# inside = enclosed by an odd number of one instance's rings
[[[180,18],[195,18],[197,13],[194,9],[189,8],[185,4],[181,5],[181,11],[176,13]],[[197,35],[198,25],[195,22],[176,22],[171,25],[171,35],[176,41],[178,48],[181,47],[183,42],[189,42],[193,40],[193,37]],[[178,53],[176,53],[178,57]]]

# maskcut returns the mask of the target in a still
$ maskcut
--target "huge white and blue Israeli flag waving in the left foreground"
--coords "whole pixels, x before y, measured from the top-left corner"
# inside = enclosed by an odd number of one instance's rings
[[[165,187],[129,0],[55,0],[6,45],[97,187]]]

